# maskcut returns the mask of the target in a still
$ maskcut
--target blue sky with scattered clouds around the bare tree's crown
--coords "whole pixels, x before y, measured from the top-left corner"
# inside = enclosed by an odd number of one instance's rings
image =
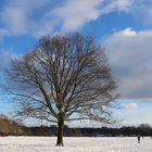
[[[122,124],[152,124],[151,0],[1,0],[0,71],[43,35],[79,31],[105,49],[118,80]],[[12,112],[1,98],[0,113]]]

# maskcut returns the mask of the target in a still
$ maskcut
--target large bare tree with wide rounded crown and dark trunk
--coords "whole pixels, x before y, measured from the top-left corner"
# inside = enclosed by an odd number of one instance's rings
[[[117,87],[104,51],[92,37],[43,37],[34,51],[12,59],[8,76],[17,115],[58,123],[56,145],[63,145],[65,122],[112,121],[109,107]]]

